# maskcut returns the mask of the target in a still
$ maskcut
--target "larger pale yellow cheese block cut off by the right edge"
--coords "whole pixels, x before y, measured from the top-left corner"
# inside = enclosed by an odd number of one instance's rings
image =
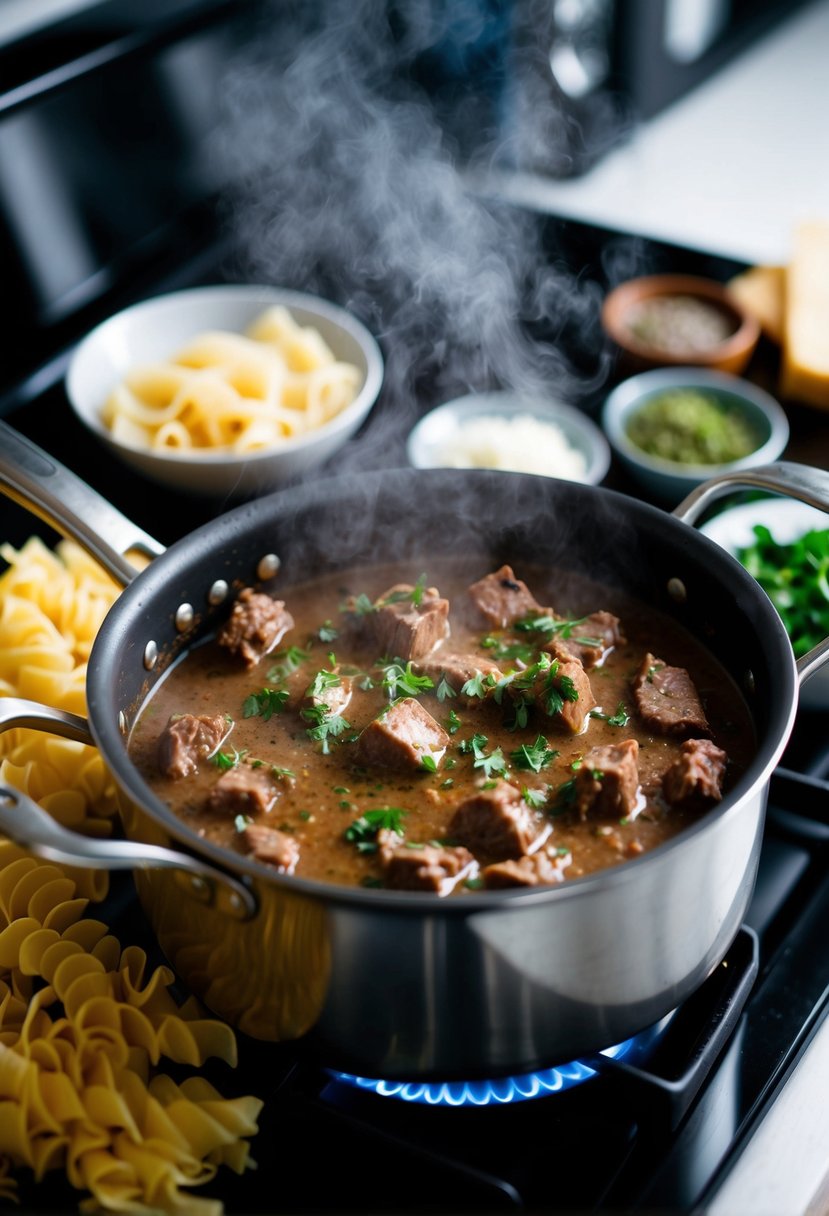
[[[784,313],[780,393],[829,410],[829,220],[795,230]]]

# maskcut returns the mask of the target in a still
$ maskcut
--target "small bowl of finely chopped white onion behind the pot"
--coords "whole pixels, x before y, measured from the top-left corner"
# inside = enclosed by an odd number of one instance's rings
[[[425,413],[408,435],[416,468],[496,468],[598,485],[607,439],[575,406],[508,390],[472,393]]]

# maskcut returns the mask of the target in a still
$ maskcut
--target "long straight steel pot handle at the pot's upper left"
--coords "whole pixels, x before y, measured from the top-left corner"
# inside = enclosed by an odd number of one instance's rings
[[[0,492],[77,541],[122,586],[137,573],[125,553],[152,558],[164,552],[96,490],[1,421]]]

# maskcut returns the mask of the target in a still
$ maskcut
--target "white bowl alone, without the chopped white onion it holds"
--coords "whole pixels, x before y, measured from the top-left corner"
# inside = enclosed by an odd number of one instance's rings
[[[478,421],[514,420],[530,416],[547,423],[566,441],[566,446],[583,460],[583,468],[551,463],[543,460],[543,432],[540,432],[541,449],[519,452],[487,451],[483,458],[470,460],[462,455],[466,447],[467,428]],[[474,434],[474,432],[473,432]],[[487,445],[484,445],[487,446]],[[552,446],[552,444],[551,444]],[[414,426],[406,445],[408,461],[416,468],[503,468],[512,472],[542,473],[564,480],[597,485],[610,467],[608,441],[591,420],[574,406],[549,401],[543,398],[521,396],[517,393],[473,393],[438,406]],[[551,455],[549,452],[547,455]],[[495,463],[497,456],[498,463]],[[514,458],[513,458],[514,457]],[[538,457],[542,457],[538,460]],[[525,463],[526,462],[526,463]],[[552,469],[556,468],[556,472]],[[549,471],[548,471],[549,469]]]

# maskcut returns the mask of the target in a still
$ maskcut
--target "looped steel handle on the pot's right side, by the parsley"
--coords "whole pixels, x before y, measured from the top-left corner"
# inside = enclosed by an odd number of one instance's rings
[[[778,461],[774,465],[760,465],[757,468],[712,477],[710,482],[704,482],[692,490],[673,510],[673,516],[682,523],[693,525],[704,511],[733,490],[768,490],[771,494],[799,499],[810,507],[829,512],[829,472],[813,468],[811,465]],[[800,683],[814,675],[827,662],[829,662],[829,637],[797,659]]]

